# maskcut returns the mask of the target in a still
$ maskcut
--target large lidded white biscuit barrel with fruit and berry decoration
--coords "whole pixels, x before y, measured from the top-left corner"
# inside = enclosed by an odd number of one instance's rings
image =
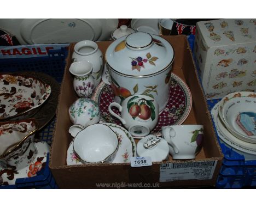
[[[115,40],[106,51],[114,101],[148,95],[161,112],[167,105],[174,51],[157,35],[138,32]]]

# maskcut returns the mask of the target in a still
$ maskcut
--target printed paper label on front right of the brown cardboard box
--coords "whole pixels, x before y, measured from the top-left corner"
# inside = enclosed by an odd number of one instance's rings
[[[217,161],[165,163],[160,166],[160,182],[212,179]]]

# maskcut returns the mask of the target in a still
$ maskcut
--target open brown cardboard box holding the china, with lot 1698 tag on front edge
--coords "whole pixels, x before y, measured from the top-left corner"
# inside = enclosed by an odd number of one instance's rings
[[[187,38],[185,35],[163,37],[170,41],[174,47],[173,73],[187,82],[193,96],[193,109],[184,124],[202,124],[205,127],[203,148],[196,156],[196,160],[172,161],[170,156],[168,162],[154,162],[152,166],[148,167],[132,168],[129,163],[67,166],[67,149],[72,140],[68,133],[68,128],[72,125],[69,120],[68,107],[77,99],[73,90],[73,78],[68,71],[74,47],[74,44],[71,44],[56,112],[56,124],[49,163],[51,172],[60,188],[102,188],[104,184],[107,184],[106,187],[112,188],[146,187],[146,185],[148,185],[147,187],[215,185],[219,169],[222,166],[223,155],[217,144],[211,115],[203,97],[203,91],[199,84]],[[110,43],[111,41],[97,42],[103,54]],[[186,170],[186,172],[183,170]],[[184,173],[178,173],[179,171]],[[180,178],[168,178],[169,172]],[[193,172],[190,173],[192,175],[189,175],[189,172]],[[183,178],[181,177],[182,175],[184,176]],[[193,180],[190,180],[191,178]],[[109,184],[110,186],[108,186]]]

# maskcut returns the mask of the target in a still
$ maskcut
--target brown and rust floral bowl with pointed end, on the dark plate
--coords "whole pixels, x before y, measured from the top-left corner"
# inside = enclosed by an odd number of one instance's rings
[[[40,79],[0,74],[0,120],[29,118],[38,111],[50,93],[50,85]]]

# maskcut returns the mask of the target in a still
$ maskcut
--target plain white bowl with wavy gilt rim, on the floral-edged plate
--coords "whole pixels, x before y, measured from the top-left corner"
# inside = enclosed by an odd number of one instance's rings
[[[117,154],[117,133],[104,124],[94,124],[74,138],[73,149],[84,163],[110,163]]]

